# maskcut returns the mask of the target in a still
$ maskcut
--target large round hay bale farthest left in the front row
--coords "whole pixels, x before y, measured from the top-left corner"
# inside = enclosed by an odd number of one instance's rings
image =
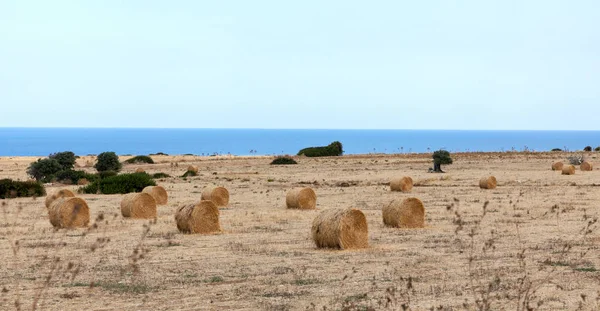
[[[87,227],[90,222],[90,208],[82,198],[57,198],[48,208],[48,218],[55,228]]]

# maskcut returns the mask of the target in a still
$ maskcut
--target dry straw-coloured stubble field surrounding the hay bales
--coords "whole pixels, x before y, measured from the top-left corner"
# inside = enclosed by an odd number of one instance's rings
[[[170,197],[155,222],[123,219],[121,195],[81,195],[95,225],[57,231],[43,198],[3,200],[0,309],[523,310],[529,301],[533,309],[598,310],[600,172],[550,170],[567,156],[454,154],[446,174],[427,173],[428,154],[300,158],[291,166],[270,166],[269,157],[155,156],[157,164],[123,171],[180,176],[190,164],[200,168],[197,177],[158,180]],[[33,160],[0,158],[0,178],[27,179]],[[77,163],[94,171],[92,157]],[[490,174],[498,187],[480,189]],[[390,192],[389,180],[405,175],[412,192]],[[179,233],[174,209],[199,200],[208,184],[230,191],[224,232]],[[305,184],[317,210],[286,209],[286,191]],[[46,190],[61,188],[77,186]],[[412,196],[425,204],[426,228],[384,227],[383,205]],[[315,248],[315,216],[347,207],[367,216],[370,247]]]

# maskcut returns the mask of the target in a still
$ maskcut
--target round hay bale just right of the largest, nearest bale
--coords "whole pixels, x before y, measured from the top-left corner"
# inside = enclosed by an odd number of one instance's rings
[[[383,224],[396,228],[425,227],[425,207],[417,198],[396,199],[382,209]]]

